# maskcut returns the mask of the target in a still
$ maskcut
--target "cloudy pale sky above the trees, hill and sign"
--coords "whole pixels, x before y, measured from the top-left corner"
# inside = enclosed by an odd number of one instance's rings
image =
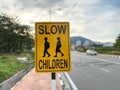
[[[0,0],[0,13],[21,24],[70,22],[70,36],[115,42],[120,33],[120,0]]]

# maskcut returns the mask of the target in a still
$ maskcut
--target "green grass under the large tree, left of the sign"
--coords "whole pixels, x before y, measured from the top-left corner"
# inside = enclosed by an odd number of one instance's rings
[[[17,57],[32,58],[31,53],[0,55],[0,83],[28,66],[26,62],[20,62],[17,60]]]

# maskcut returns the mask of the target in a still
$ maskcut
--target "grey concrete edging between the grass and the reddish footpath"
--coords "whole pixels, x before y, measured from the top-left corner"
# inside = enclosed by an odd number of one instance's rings
[[[0,83],[0,90],[10,90],[24,75],[26,75],[34,67],[33,61],[29,62],[29,66],[13,75],[11,78]]]

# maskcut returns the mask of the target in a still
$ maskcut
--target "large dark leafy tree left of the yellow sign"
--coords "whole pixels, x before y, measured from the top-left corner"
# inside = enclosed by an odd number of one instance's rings
[[[0,15],[0,52],[9,53],[17,50],[30,50],[33,47],[33,38],[30,27],[17,23],[8,15]]]

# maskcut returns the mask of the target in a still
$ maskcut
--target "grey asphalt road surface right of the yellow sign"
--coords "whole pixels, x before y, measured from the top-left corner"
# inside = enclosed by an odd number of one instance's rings
[[[120,90],[120,59],[71,52],[69,76],[78,90]]]

